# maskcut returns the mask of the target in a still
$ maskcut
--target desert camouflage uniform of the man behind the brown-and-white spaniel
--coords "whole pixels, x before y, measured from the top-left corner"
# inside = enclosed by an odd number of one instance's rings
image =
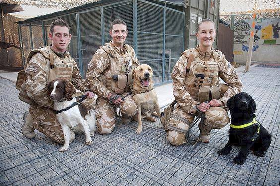
[[[60,124],[57,121],[56,114],[52,110],[53,101],[47,95],[47,84],[54,79],[63,78],[71,80],[76,89],[85,92],[89,91],[85,80],[82,79],[79,69],[74,59],[66,52],[63,58],[54,53],[50,46],[38,50],[31,51],[28,55],[28,65],[25,67],[27,81],[26,86],[27,95],[35,101],[34,104],[29,105],[29,112],[33,117],[33,126],[35,129],[44,133],[47,137],[58,143],[64,143],[63,132]],[[44,55],[50,54],[54,57],[54,66],[49,69],[49,59]],[[48,72],[49,71],[49,72]],[[83,95],[82,92],[77,92],[74,96]],[[89,109],[95,105],[95,100],[85,99],[83,102]],[[72,134],[74,135],[74,134]]]

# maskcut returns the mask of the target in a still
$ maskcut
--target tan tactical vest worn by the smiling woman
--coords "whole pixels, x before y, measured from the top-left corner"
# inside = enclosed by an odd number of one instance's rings
[[[224,86],[219,83],[219,69],[224,59],[222,52],[214,50],[209,61],[201,60],[195,48],[184,51],[182,55],[191,60],[185,77],[185,89],[191,97],[199,102],[221,98],[221,86]]]

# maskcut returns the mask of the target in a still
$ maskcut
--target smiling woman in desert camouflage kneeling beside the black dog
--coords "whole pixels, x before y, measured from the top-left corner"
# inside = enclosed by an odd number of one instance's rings
[[[227,100],[239,93],[242,83],[234,67],[225,59],[221,51],[213,50],[216,37],[215,24],[204,19],[198,24],[199,45],[188,49],[173,68],[173,94],[177,101],[167,132],[167,140],[173,145],[186,143],[186,133],[195,115],[205,114],[199,124],[199,140],[210,141],[212,129],[223,128],[229,123]],[[225,84],[219,83],[219,77]]]

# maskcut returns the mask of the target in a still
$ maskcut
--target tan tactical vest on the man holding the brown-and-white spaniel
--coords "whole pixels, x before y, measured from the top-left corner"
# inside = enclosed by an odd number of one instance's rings
[[[24,65],[24,70],[18,73],[16,88],[20,90],[19,99],[28,104],[36,104],[26,93],[26,81],[27,77],[25,70],[33,55],[40,52],[47,60],[47,67],[44,69],[46,71],[46,83],[51,82],[54,79],[62,78],[70,80],[73,74],[74,60],[71,58],[69,52],[66,53],[65,58],[58,57],[51,49],[50,46],[33,49],[27,56],[27,60]]]

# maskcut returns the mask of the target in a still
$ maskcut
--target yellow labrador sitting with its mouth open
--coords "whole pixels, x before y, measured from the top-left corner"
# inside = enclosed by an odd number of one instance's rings
[[[147,64],[139,65],[132,72],[132,77],[134,78],[132,98],[138,105],[137,134],[142,132],[142,118],[155,122],[156,119],[151,117],[151,114],[161,117],[157,94],[153,88],[152,75],[153,71]]]

